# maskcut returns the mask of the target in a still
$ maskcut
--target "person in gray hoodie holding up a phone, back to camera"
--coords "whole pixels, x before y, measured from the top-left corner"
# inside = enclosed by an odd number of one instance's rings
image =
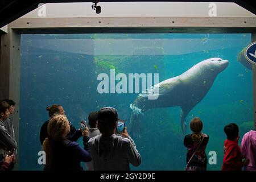
[[[101,134],[89,140],[94,170],[127,171],[130,163],[133,166],[141,164],[141,155],[126,127],[121,135],[115,134],[117,121],[117,110],[113,107],[103,107],[98,111],[97,125]]]

